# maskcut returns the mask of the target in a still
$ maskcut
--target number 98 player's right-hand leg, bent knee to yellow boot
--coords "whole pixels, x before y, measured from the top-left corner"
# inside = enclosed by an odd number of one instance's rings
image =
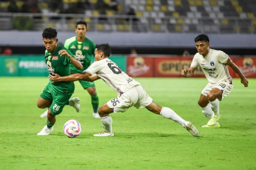
[[[218,88],[214,88],[207,94],[208,101],[210,103],[210,107],[214,112],[212,118],[208,121],[208,126],[213,126],[218,123],[219,118],[221,115],[219,114],[219,101],[222,99],[222,91]]]

